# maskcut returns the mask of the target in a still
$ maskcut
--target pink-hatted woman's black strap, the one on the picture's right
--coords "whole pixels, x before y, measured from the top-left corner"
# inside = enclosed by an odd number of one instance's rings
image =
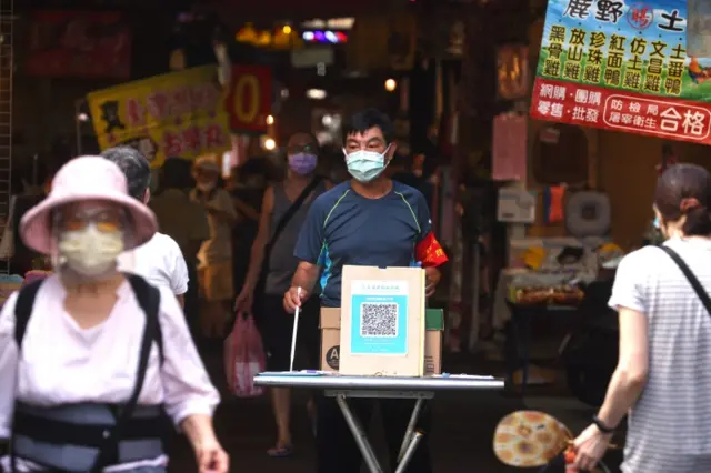
[[[100,473],[104,467],[116,463],[118,460],[118,446],[121,440],[121,434],[126,424],[133,415],[136,405],[138,404],[138,397],[143,389],[143,382],[146,380],[146,371],[148,369],[148,361],[151,353],[153,342],[158,342],[160,333],[160,321],[158,319],[158,310],[160,306],[160,291],[150,285],[141,276],[134,274],[126,274],[133,291],[136,298],[139,300],[139,304],[143,312],[146,312],[146,329],[143,330],[143,339],[141,340],[141,351],[139,354],[138,369],[136,374],[136,384],[128,402],[123,405],[118,413],[116,425],[108,432],[104,437],[103,445],[99,450],[97,461],[91,469],[90,473]],[[161,345],[159,345],[160,349]],[[161,351],[162,352],[162,351]]]

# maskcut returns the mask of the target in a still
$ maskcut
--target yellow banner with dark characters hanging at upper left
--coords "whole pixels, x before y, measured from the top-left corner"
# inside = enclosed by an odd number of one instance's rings
[[[196,158],[231,149],[217,66],[124,83],[87,95],[99,147],[134,147],[151,168],[168,157]]]

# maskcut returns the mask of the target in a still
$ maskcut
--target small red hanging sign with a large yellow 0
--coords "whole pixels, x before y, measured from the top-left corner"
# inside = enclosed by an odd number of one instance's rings
[[[271,69],[263,66],[234,66],[226,108],[233,133],[267,133],[271,113]]]

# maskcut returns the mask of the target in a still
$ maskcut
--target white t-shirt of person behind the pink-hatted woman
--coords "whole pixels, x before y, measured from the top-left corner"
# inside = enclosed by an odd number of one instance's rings
[[[119,258],[119,269],[146,278],[153,285],[176,294],[188,292],[188,266],[176,240],[156,233],[148,243]]]

